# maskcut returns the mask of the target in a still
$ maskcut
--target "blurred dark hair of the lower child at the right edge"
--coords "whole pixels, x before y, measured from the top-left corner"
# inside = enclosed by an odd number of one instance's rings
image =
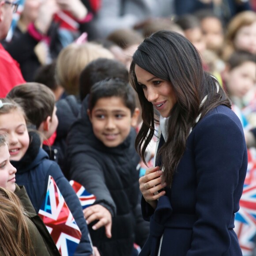
[[[227,60],[227,64],[231,70],[248,61],[256,63],[256,56],[245,51],[236,51],[231,54],[230,58]]]

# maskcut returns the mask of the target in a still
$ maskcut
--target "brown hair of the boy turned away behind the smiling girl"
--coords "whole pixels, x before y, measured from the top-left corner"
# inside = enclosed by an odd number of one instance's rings
[[[26,117],[38,129],[47,117],[53,116],[55,97],[47,86],[41,83],[23,83],[7,94],[24,109]]]

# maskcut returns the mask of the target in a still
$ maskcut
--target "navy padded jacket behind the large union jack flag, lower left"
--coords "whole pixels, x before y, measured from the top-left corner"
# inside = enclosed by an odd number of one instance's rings
[[[74,256],[89,256],[92,254],[92,248],[79,199],[68,180],[64,177],[58,164],[49,160],[47,153],[40,147],[41,142],[38,134],[30,132],[30,136],[31,134],[32,139],[30,139],[30,146],[26,154],[20,161],[11,161],[11,164],[17,169],[15,174],[16,183],[24,185],[31,203],[38,214],[46,195],[48,178],[51,175],[82,233],[81,241],[76,248]]]

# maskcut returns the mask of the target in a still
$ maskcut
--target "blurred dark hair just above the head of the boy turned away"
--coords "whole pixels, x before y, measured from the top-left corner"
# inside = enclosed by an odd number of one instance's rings
[[[34,82],[42,83],[54,91],[58,87],[55,79],[55,72],[56,72],[56,60],[54,60],[50,64],[47,64],[38,68],[34,76]]]

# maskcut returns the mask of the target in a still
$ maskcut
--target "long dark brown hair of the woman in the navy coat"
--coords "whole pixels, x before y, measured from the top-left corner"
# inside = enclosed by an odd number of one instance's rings
[[[152,75],[169,81],[176,94],[177,103],[169,115],[168,139],[158,152],[165,168],[164,181],[170,185],[173,174],[185,151],[190,129],[201,117],[218,105],[230,107],[230,100],[217,80],[203,71],[200,55],[196,48],[181,34],[158,31],[146,38],[133,55],[130,81],[136,90],[142,107],[143,124],[136,138],[136,149],[145,162],[144,153],[154,135],[154,108],[147,101],[142,87],[137,83],[135,65]],[[200,107],[203,98],[206,102]]]

